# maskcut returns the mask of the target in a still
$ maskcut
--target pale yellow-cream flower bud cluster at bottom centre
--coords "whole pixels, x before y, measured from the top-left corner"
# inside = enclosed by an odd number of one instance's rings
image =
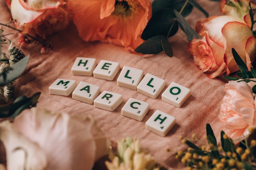
[[[150,154],[141,151],[140,141],[130,137],[117,141],[118,154],[111,150],[106,161],[109,170],[160,170],[165,169],[159,165]]]

